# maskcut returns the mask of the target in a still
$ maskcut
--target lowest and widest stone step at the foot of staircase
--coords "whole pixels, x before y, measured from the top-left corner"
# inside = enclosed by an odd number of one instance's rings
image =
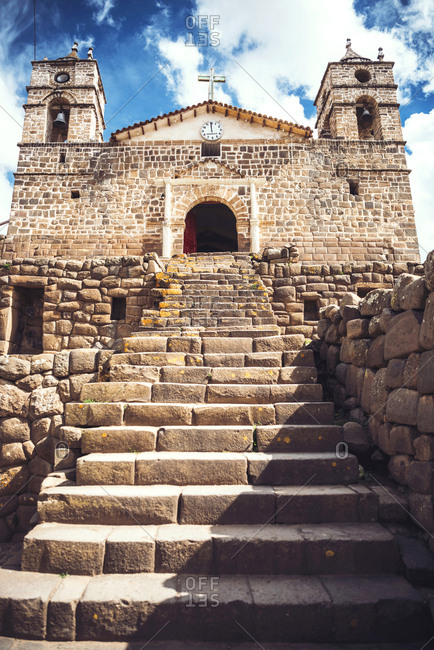
[[[232,641],[248,641],[242,647],[250,650],[252,638],[255,647],[265,643],[270,650],[282,648],[274,641],[285,642],[285,650],[295,641],[294,650],[313,650],[308,642],[326,642],[324,650],[343,642],[351,644],[345,650],[355,650],[354,643],[367,642],[363,650],[378,650],[376,642],[385,639],[413,650],[409,642],[419,640],[422,648],[432,632],[428,604],[404,578],[393,575],[61,577],[2,569],[0,593],[3,634],[49,635],[58,639],[56,647],[73,638],[77,649],[80,640],[88,641],[87,650],[110,648],[113,639],[129,641],[130,648],[145,643],[165,650],[211,649],[216,641],[224,642],[218,646],[222,650]],[[149,644],[157,635],[158,643]],[[189,639],[188,645],[173,638]],[[132,642],[138,639],[145,641],[136,646]],[[22,647],[34,645],[27,641]]]

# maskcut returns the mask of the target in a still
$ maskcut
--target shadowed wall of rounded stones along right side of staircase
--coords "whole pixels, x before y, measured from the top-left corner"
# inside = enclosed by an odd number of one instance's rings
[[[323,309],[318,334],[337,408],[390,457],[413,517],[433,531],[434,251],[425,277],[404,273],[392,289],[348,293]]]

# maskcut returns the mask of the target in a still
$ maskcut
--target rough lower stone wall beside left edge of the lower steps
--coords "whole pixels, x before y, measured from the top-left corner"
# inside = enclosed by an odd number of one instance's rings
[[[62,426],[65,404],[79,399],[84,384],[103,379],[107,354],[0,356],[0,541],[27,532],[44,480],[48,486],[74,478],[80,441]]]

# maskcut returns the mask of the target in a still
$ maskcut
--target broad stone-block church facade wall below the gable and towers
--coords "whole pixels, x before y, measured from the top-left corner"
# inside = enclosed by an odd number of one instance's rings
[[[201,158],[198,141],[26,143],[0,253],[161,254],[166,183],[174,254],[187,212],[206,200],[232,209],[248,251],[254,181],[260,248],[291,241],[302,262],[417,260],[408,174],[396,141],[227,141],[218,160]]]

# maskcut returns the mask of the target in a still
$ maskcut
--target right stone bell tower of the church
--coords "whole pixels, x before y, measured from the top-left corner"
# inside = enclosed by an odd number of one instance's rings
[[[360,56],[347,40],[342,59],[329,63],[315,99],[319,138],[402,141],[394,63]]]

